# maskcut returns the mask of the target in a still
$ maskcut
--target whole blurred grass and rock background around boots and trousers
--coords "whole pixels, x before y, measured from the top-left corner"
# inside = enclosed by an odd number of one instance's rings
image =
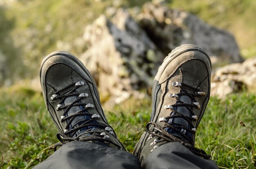
[[[216,96],[195,146],[220,168],[254,169],[255,17],[256,0],[0,0],[0,168],[31,168],[53,153],[57,129],[39,80],[49,53],[81,59],[108,122],[132,152],[150,117],[159,65],[192,43],[211,58]]]

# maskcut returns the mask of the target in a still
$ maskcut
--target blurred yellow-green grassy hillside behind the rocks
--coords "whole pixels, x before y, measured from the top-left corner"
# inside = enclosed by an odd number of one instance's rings
[[[0,0],[0,86],[38,77],[41,60],[54,50],[81,55],[88,48],[81,40],[85,27],[99,15],[108,17],[119,7],[135,13],[146,2],[150,1]],[[232,33],[243,58],[256,55],[254,0],[164,2],[166,7],[188,11]]]

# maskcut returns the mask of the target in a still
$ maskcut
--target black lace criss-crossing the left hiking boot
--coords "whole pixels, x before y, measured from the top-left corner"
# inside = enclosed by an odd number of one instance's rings
[[[83,86],[85,83],[84,81],[79,81],[76,83],[72,83],[65,88],[62,88],[61,90],[58,90],[56,93],[54,93],[51,97],[51,100],[54,101],[55,99],[59,99],[59,103],[57,105],[56,110],[59,111],[61,109],[64,109],[63,114],[61,116],[61,123],[64,121],[67,121],[67,125],[65,126],[65,129],[63,132],[58,132],[56,134],[58,140],[61,143],[56,143],[54,146],[54,151],[56,151],[56,148],[58,146],[62,146],[65,143],[69,143],[74,140],[78,141],[100,141],[105,144],[113,144],[117,148],[121,148],[119,145],[115,144],[108,135],[106,135],[105,132],[102,132],[102,129],[105,130],[106,132],[109,132],[111,135],[114,135],[112,128],[110,128],[108,125],[105,123],[99,123],[97,119],[100,118],[98,114],[92,114],[90,113],[90,109],[94,108],[94,105],[90,103],[83,103],[81,100],[85,97],[89,97],[88,93],[78,93],[76,92],[76,89]],[[71,89],[70,89],[71,88]],[[67,91],[65,94],[61,94],[63,91]],[[72,103],[68,105],[62,105],[63,101],[67,97],[72,97],[72,96],[77,96],[78,99],[74,100]],[[81,106],[83,107],[82,110],[75,112],[74,114],[67,116],[68,110],[72,108],[72,106]],[[70,130],[68,130],[69,125],[71,124],[72,120],[74,120],[77,116],[81,115],[88,115],[91,116],[91,119],[85,121],[81,125],[74,127]],[[97,123],[92,123],[92,122],[97,122]],[[85,128],[85,127],[92,127],[90,129],[86,129],[86,131],[83,131],[83,137],[80,138],[80,136],[74,136],[79,129]]]

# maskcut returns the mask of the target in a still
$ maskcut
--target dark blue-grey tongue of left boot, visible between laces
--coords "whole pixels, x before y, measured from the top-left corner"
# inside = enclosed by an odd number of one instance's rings
[[[76,101],[78,99],[77,96],[71,96],[71,97],[67,97],[63,103],[64,105],[70,105],[72,102]],[[85,109],[83,105],[76,105],[76,106],[72,106],[67,113],[65,114],[65,116],[70,116],[72,114],[76,114],[77,112],[81,111]],[[87,110],[85,112],[88,112]],[[80,116],[75,116],[75,118],[71,121],[70,125],[68,126],[68,129],[73,129],[76,127],[79,127],[81,124],[85,123],[85,121],[88,121],[92,119],[91,116],[89,115],[80,115]],[[69,122],[69,120],[67,120],[67,122]],[[92,121],[90,123],[97,123],[96,121]],[[73,137],[76,137],[77,135],[81,135],[83,132],[85,132],[86,130],[90,129],[90,128],[97,128],[94,126],[89,126],[89,127],[83,127],[79,130],[76,131],[76,134],[74,134]],[[71,136],[72,133],[70,133]]]

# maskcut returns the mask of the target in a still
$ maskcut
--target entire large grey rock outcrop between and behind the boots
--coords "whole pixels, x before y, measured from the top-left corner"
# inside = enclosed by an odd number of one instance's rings
[[[79,59],[96,80],[102,101],[115,104],[130,96],[144,97],[139,91],[145,89],[150,94],[164,57],[184,43],[207,50],[213,63],[243,60],[231,34],[195,15],[148,3],[136,20],[119,9],[111,19],[101,15],[85,28],[88,50]]]

